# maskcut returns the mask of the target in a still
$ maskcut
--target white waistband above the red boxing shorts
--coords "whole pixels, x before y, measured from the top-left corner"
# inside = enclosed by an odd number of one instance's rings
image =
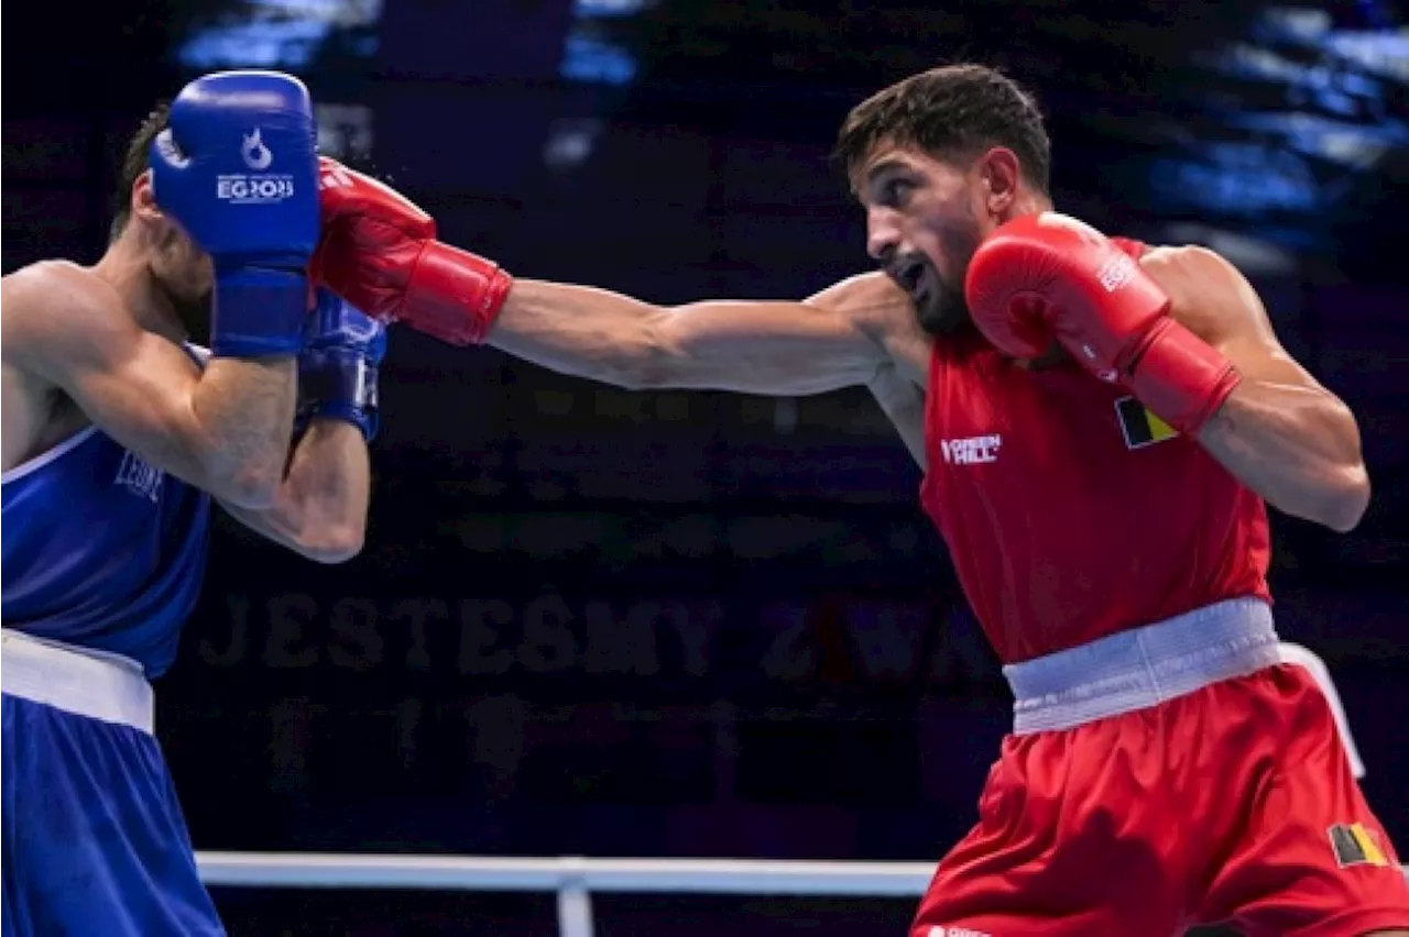
[[[1003,668],[1013,734],[1071,729],[1148,709],[1281,663],[1272,609],[1227,599]]]

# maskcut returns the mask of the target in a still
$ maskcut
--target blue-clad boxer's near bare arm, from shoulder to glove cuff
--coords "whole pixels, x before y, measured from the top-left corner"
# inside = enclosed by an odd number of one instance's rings
[[[0,355],[154,466],[231,504],[273,498],[293,425],[292,357],[214,359],[201,371],[139,328],[106,283],[61,263],[0,280]]]

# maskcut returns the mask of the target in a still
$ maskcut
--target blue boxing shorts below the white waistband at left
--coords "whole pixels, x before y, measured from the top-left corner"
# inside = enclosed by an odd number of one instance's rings
[[[156,739],[0,692],[0,937],[224,933]]]

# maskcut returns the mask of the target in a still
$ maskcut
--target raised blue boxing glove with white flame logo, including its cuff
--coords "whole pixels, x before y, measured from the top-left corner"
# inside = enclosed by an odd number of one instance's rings
[[[317,246],[309,90],[278,72],[221,72],[176,96],[152,142],[152,190],[214,260],[211,353],[296,355]]]

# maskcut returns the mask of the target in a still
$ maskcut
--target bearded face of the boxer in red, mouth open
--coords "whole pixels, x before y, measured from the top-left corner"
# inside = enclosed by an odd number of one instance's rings
[[[910,294],[926,332],[969,321],[964,274],[979,242],[1006,221],[1016,179],[1017,158],[1006,149],[961,165],[886,142],[852,172],[867,253]],[[1009,194],[995,198],[995,190]]]

